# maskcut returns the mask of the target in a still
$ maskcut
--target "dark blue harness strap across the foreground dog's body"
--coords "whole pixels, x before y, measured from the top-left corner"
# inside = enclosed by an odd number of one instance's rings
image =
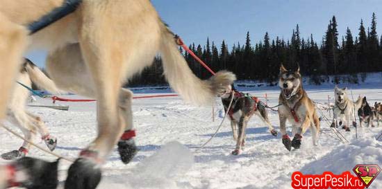
[[[66,15],[69,15],[70,13],[74,12],[74,10],[77,9],[78,5],[81,4],[81,2],[82,0],[65,0],[62,6],[54,8],[47,15],[44,15],[37,21],[33,21],[31,24],[29,24],[28,29],[31,31],[29,35],[38,32],[42,28],[45,28],[50,24],[53,24],[53,22],[58,21]]]

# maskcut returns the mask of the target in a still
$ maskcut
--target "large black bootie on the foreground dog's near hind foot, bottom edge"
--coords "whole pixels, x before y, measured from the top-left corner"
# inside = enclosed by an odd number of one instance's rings
[[[94,189],[101,181],[101,168],[90,158],[78,158],[67,172],[65,189]]]

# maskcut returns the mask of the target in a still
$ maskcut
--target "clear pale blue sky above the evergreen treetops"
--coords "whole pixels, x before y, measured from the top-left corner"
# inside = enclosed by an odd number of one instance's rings
[[[163,21],[183,38],[185,44],[204,45],[207,37],[218,46],[244,44],[247,31],[251,43],[263,40],[265,32],[290,39],[299,24],[301,37],[318,43],[335,15],[338,32],[344,35],[349,26],[353,37],[358,35],[360,19],[370,26],[376,13],[377,33],[382,34],[381,0],[151,0]],[[380,19],[381,18],[381,19]],[[46,53],[34,51],[26,55],[38,66],[44,66]]]

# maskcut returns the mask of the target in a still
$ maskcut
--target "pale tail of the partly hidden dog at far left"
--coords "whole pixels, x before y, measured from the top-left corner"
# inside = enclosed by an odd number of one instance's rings
[[[31,78],[31,81],[38,85],[38,87],[45,89],[53,94],[65,93],[56,87],[56,84],[47,77],[31,60],[25,60],[25,69]]]

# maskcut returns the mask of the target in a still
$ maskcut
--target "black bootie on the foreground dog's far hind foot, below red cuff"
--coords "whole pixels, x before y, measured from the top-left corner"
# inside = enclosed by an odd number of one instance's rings
[[[122,162],[127,164],[133,159],[135,154],[138,153],[138,147],[135,145],[133,138],[120,140],[118,142],[118,152]]]

